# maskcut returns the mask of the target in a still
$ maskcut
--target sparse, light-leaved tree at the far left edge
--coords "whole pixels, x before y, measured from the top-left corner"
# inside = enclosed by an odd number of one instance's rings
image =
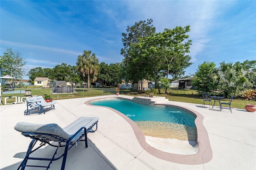
[[[26,61],[20,51],[13,52],[12,48],[7,48],[0,56],[0,65],[3,75],[10,75],[15,79],[22,79],[24,76],[24,65]],[[14,83],[14,82],[13,82]]]

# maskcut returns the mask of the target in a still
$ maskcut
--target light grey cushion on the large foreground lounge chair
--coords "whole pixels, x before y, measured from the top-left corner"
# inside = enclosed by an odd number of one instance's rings
[[[26,122],[18,122],[14,127],[15,130],[19,132],[32,132],[32,133],[48,133],[59,136],[63,139],[69,140],[70,137],[75,134],[81,127],[86,127],[88,129],[91,125],[96,123],[99,120],[98,117],[80,117],[70,125],[65,128],[59,127],[55,123],[51,124],[34,124]],[[81,130],[71,142],[76,142],[78,138],[84,133],[84,130]]]

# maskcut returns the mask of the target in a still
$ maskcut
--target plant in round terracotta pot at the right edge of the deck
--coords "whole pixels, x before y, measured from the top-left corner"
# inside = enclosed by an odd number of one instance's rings
[[[252,101],[255,100],[255,96],[256,96],[256,89],[249,89],[243,92],[242,97],[246,97],[245,100],[247,101],[247,104],[244,107],[246,111],[248,112],[256,111],[255,102],[252,103]]]

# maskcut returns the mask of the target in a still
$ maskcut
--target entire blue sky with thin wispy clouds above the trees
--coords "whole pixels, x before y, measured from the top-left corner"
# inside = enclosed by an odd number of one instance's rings
[[[256,60],[255,0],[0,0],[0,55],[7,48],[21,52],[26,73],[76,65],[84,50],[99,63],[122,62],[122,32],[150,18],[156,32],[190,25],[193,64],[185,75],[204,61],[218,67],[222,61]]]

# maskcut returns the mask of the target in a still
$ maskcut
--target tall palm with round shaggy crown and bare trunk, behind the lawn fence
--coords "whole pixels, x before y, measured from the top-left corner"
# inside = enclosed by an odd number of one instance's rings
[[[96,81],[96,75],[100,68],[99,61],[96,58],[95,53],[92,53],[90,50],[84,50],[83,55],[78,56],[76,65],[78,71],[83,77],[87,75],[87,87],[90,88],[90,77],[92,76],[93,80]]]

